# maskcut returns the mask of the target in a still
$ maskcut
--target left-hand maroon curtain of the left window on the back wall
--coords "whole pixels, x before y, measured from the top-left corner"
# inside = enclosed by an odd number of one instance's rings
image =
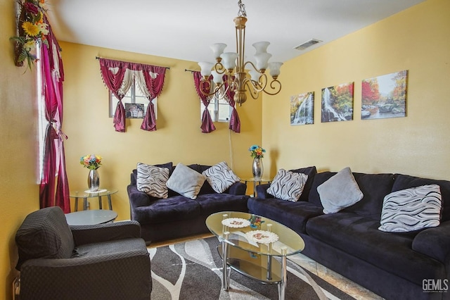
[[[117,73],[114,74],[110,68],[117,68]],[[117,107],[115,108],[113,120],[115,131],[125,132],[125,108],[124,104],[122,104],[124,95],[119,94],[119,89],[122,86],[126,68],[124,68],[121,61],[100,58],[100,70],[101,77],[103,77],[103,82],[105,82],[106,87],[108,87],[114,96],[119,99]]]

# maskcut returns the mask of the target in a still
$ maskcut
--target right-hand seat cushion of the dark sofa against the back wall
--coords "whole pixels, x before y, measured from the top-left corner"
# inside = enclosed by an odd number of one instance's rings
[[[200,205],[201,215],[211,215],[219,211],[248,211],[248,196],[233,194],[199,194],[194,200]]]

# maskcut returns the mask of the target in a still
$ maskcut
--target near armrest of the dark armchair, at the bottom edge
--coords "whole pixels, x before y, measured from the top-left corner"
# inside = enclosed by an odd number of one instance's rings
[[[144,248],[145,249],[145,248]],[[150,299],[150,258],[143,251],[23,263],[20,299]]]

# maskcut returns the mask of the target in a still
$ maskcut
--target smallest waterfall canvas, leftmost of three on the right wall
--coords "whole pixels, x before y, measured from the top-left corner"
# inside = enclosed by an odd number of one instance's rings
[[[290,125],[314,124],[314,92],[290,96]]]

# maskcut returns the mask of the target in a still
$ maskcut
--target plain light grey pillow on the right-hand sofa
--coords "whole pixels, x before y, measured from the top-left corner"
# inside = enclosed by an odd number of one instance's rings
[[[323,213],[337,213],[363,199],[350,168],[343,168],[317,187],[321,197]]]

